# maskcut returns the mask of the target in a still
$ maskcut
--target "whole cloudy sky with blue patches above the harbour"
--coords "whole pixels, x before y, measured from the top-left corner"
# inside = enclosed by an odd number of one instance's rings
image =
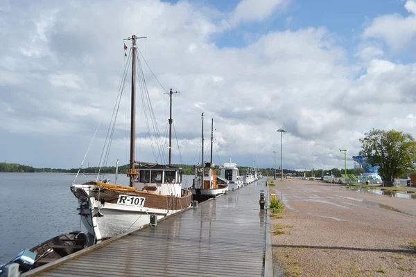
[[[148,138],[138,92],[137,161],[166,163],[171,88],[173,163],[200,162],[202,112],[216,165],[343,168],[342,149],[352,168],[373,128],[416,137],[415,0],[2,0],[0,161],[98,166],[131,35],[147,37],[137,44],[163,136]],[[129,80],[107,166],[129,163]]]

